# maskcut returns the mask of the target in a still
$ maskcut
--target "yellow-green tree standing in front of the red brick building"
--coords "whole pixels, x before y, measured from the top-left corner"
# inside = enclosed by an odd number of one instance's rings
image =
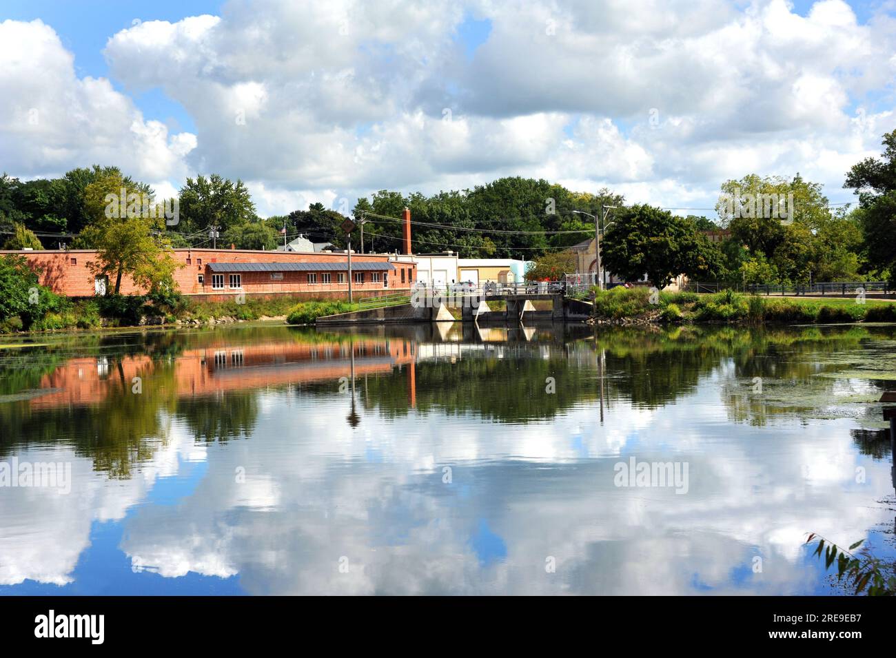
[[[85,204],[92,220],[82,231],[80,244],[97,250],[97,262],[91,263],[91,269],[94,274],[115,281],[115,295],[121,294],[125,274],[151,292],[173,288],[173,274],[179,265],[157,238],[165,228],[164,215],[157,212],[151,218],[146,216],[149,213],[111,211],[109,195],[118,196],[121,188],[125,188],[126,194],[143,189],[127,184],[120,175],[109,175],[85,190]]]

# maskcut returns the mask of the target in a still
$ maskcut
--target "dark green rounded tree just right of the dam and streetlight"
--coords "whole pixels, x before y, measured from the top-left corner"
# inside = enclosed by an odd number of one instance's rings
[[[602,265],[628,280],[645,273],[653,286],[668,286],[679,274],[717,278],[722,269],[719,248],[694,222],[667,210],[638,205],[620,209],[601,241]]]

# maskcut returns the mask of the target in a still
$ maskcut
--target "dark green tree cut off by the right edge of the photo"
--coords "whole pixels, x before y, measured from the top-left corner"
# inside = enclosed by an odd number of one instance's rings
[[[858,195],[867,269],[889,269],[896,281],[896,130],[883,135],[883,158],[865,158],[849,170],[844,187]]]

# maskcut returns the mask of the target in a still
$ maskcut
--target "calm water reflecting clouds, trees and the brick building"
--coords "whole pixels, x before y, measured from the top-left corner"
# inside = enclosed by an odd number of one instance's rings
[[[806,533],[894,555],[883,389],[886,327],[7,346],[0,466],[59,478],[0,487],[0,594],[837,594]]]

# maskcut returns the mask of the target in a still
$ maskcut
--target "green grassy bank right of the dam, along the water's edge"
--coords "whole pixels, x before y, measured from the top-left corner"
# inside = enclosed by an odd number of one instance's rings
[[[714,295],[666,293],[650,295],[643,287],[595,291],[598,320],[650,322],[896,322],[896,303],[852,298],[810,299],[763,297],[726,291]]]

